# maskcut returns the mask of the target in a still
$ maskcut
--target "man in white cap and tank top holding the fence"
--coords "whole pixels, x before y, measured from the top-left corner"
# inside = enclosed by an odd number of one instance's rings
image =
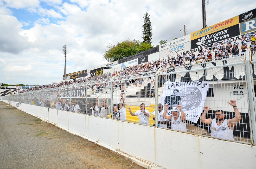
[[[186,126],[186,115],[182,110],[181,105],[177,105],[177,107],[173,107],[171,110],[168,110],[169,105],[165,104],[163,118],[168,119],[171,122],[171,129],[178,131],[187,132]],[[171,115],[168,115],[171,112]],[[168,128],[168,127],[167,127]]]

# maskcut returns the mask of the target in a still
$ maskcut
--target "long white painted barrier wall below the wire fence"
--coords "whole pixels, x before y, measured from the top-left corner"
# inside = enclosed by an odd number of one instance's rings
[[[21,110],[32,111],[29,114],[41,118],[46,116],[45,109],[48,108],[35,107],[38,106],[22,103],[20,106]],[[48,120],[55,120],[56,117],[61,128],[163,168],[256,168],[256,147],[252,145],[55,111],[49,109]],[[51,118],[50,113],[53,115]]]

